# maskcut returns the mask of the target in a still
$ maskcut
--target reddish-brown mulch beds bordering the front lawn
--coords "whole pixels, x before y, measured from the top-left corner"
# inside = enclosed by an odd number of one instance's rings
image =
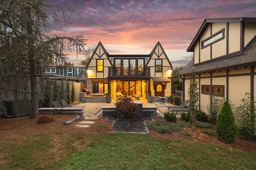
[[[64,125],[65,121],[75,118],[75,115],[68,114],[60,114],[60,115],[52,115],[55,121],[51,123],[38,124],[36,119],[30,119],[29,117],[18,117],[18,118],[0,118],[0,135],[4,137],[14,137],[18,134],[22,133],[36,133],[43,131],[50,132],[61,132],[61,133],[108,133],[109,131],[116,131],[112,128],[112,121],[105,121],[106,117],[99,117],[95,121],[94,124],[90,125],[90,127],[82,128],[77,127],[76,124],[78,122],[83,121],[81,118],[70,125]],[[164,118],[154,118],[154,121],[164,120]],[[126,123],[126,122],[124,122]],[[167,122],[169,123],[169,122]],[[104,126],[103,126],[104,125]],[[196,128],[196,131],[192,132],[192,129],[187,129],[192,135],[182,135],[179,132],[172,132],[170,134],[161,134],[156,130],[150,130],[150,135],[152,137],[160,138],[160,139],[174,139],[174,140],[186,140],[192,142],[200,142],[200,143],[211,143],[215,145],[220,145],[222,147],[226,147],[229,149],[240,149],[244,152],[250,152],[256,154],[256,140],[244,140],[241,138],[237,138],[234,143],[225,144],[218,140],[216,137],[212,137],[202,133],[201,128]],[[56,139],[58,140],[58,139]]]

